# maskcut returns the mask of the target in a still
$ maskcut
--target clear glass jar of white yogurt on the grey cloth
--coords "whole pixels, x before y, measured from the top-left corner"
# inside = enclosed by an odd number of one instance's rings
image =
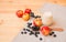
[[[51,11],[45,11],[42,15],[43,24],[51,25],[53,23],[53,14]]]

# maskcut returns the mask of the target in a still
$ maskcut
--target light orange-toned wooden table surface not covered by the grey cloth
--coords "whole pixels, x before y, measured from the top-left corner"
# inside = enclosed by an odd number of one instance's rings
[[[12,42],[23,28],[24,21],[16,10],[32,9],[35,13],[45,2],[66,6],[66,0],[0,0],[0,42]]]

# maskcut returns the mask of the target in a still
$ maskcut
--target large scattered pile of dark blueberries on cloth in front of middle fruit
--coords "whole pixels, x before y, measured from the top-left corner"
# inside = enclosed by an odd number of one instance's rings
[[[23,29],[23,31],[21,32],[21,34],[26,34],[29,32],[30,35],[35,35],[35,38],[38,38],[38,34],[40,34],[40,28],[37,27],[31,27],[32,23],[28,23],[28,28],[29,29]],[[43,39],[40,38],[40,40],[42,41]]]

